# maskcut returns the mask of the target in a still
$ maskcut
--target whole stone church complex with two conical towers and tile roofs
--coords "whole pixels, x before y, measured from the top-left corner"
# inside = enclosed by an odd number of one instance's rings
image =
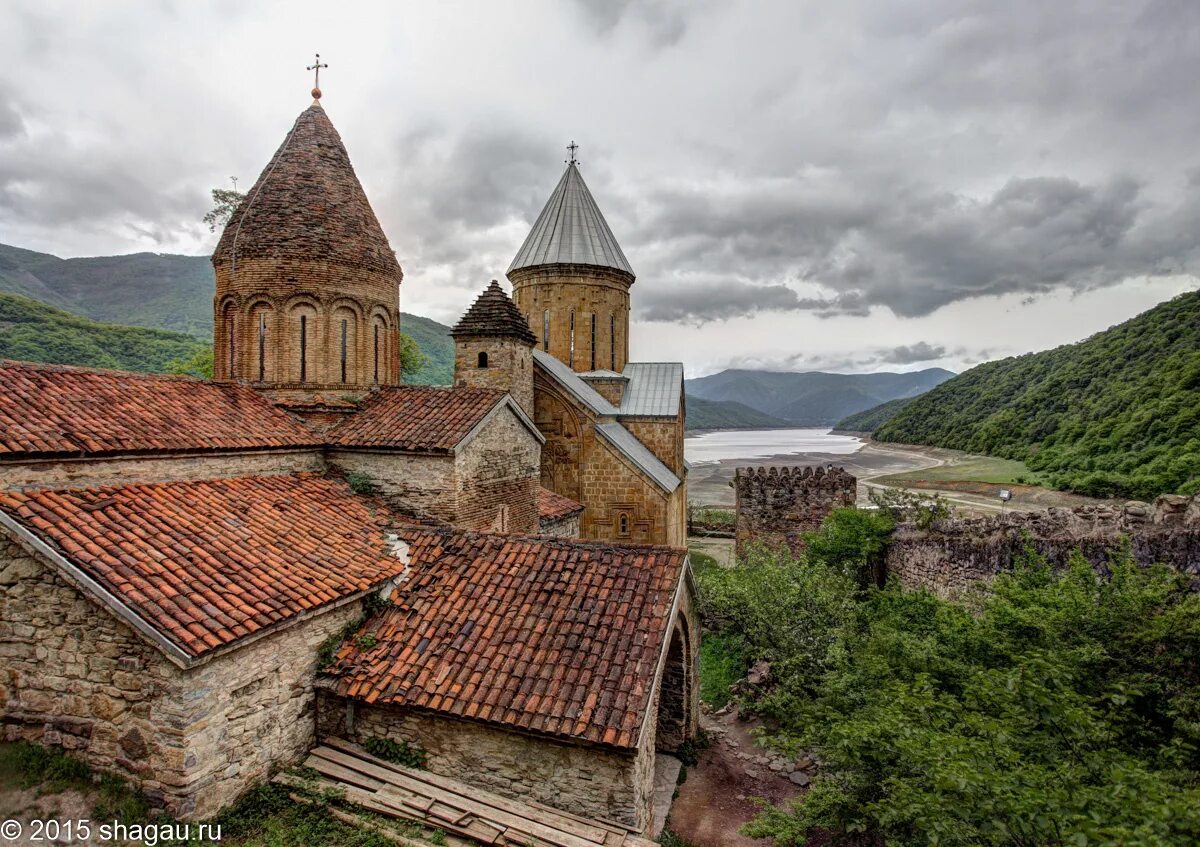
[[[314,91],[319,97],[319,92]],[[0,725],[206,817],[323,738],[643,831],[696,731],[682,367],[572,161],[407,386],[319,101],[229,221],[214,379],[0,362]]]

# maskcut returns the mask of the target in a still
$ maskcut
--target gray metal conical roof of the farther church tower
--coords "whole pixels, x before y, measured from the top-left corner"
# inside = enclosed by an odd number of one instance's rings
[[[509,274],[521,268],[553,264],[612,268],[634,276],[629,259],[608,229],[575,162],[566,166],[563,179],[509,265]]]

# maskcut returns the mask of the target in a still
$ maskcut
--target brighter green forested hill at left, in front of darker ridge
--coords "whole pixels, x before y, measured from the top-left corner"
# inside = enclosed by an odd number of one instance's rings
[[[0,359],[162,372],[208,347],[182,332],[101,324],[0,293]]]

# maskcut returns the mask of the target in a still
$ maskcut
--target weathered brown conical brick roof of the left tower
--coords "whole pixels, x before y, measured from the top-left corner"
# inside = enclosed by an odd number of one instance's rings
[[[234,211],[212,262],[247,258],[317,259],[401,275],[342,138],[316,103],[300,113]]]

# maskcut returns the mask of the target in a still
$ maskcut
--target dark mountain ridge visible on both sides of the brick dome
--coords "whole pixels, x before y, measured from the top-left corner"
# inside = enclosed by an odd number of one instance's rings
[[[130,253],[60,259],[0,244],[0,292],[94,322],[186,332],[211,343],[215,288],[206,256]],[[428,365],[409,382],[449,385],[454,378],[450,328],[406,312],[400,320],[401,330],[428,359]],[[77,326],[74,331],[86,330]]]

